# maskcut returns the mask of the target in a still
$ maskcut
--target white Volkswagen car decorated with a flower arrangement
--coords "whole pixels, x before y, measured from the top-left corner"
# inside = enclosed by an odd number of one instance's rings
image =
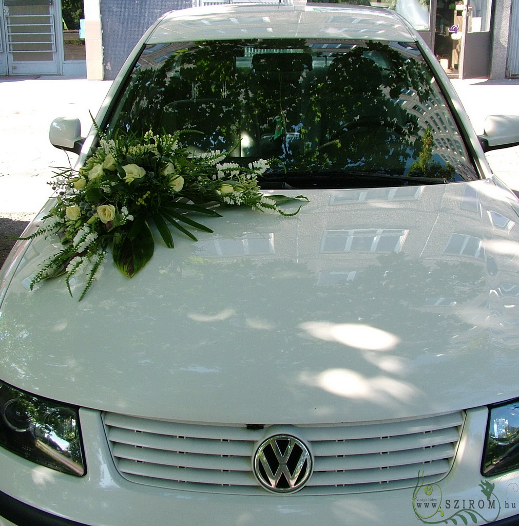
[[[477,137],[404,19],[171,12],[50,135],[86,165],[0,275],[2,526],[519,523],[519,201],[484,157],[519,126]],[[148,154],[188,214],[137,232]],[[209,158],[257,209],[189,210]]]

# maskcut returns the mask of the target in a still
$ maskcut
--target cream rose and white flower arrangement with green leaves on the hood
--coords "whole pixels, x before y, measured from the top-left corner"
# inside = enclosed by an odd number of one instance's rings
[[[245,205],[282,216],[278,205],[304,196],[263,196],[258,177],[268,168],[263,159],[241,167],[226,163],[225,154],[211,151],[195,155],[179,145],[183,132],[144,137],[100,135],[99,146],[83,168],[56,173],[56,205],[32,236],[57,234],[62,247],[33,276],[30,288],[47,278],[65,275],[71,280],[85,272],[82,300],[98,279],[111,249],[114,263],[133,277],[151,259],[155,242],[149,226],[154,221],[169,248],[174,247],[171,227],[193,240],[191,229],[212,230],[189,217],[189,212],[219,216],[218,205]],[[185,132],[184,132],[185,133]]]

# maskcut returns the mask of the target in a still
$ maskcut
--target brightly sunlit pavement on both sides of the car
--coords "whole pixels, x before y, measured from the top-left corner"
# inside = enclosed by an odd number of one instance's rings
[[[111,82],[64,77],[0,77],[0,262],[12,245],[5,235],[19,235],[52,193],[52,167],[74,165],[48,141],[55,117],[73,116],[83,133],[91,125]],[[453,80],[476,132],[487,115],[519,115],[519,80]],[[495,173],[519,189],[519,147],[487,154]]]

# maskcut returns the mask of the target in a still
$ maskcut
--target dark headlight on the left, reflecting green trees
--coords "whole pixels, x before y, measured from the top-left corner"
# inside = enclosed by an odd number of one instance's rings
[[[0,446],[63,473],[86,473],[78,409],[2,382]]]

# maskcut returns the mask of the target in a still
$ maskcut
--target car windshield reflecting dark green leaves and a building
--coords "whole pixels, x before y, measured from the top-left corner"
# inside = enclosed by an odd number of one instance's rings
[[[434,184],[477,178],[418,47],[255,39],[149,45],[108,130],[185,130],[194,153],[266,159],[262,188]]]

